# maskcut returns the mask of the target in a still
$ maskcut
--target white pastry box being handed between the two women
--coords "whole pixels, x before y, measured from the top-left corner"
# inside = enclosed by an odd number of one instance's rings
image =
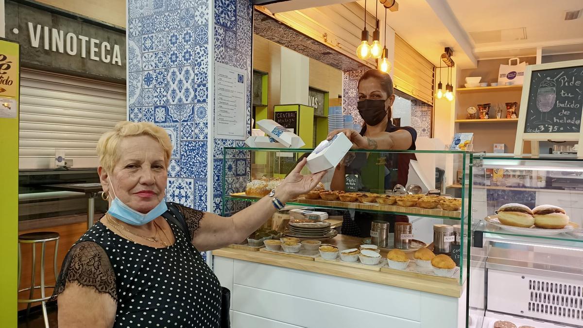
[[[352,142],[345,134],[336,134],[331,140],[320,142],[308,156],[306,165],[312,173],[331,169],[340,163],[350,147],[352,147]]]

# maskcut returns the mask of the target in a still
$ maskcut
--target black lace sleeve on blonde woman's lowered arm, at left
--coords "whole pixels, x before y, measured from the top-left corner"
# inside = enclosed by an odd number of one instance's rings
[[[117,302],[115,273],[107,253],[95,242],[80,242],[71,247],[63,261],[52,299],[65,290],[67,282],[73,281],[109,294]]]

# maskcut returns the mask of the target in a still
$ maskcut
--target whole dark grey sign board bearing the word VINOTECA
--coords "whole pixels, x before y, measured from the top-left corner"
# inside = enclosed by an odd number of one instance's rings
[[[22,67],[126,82],[124,29],[37,2],[4,4],[6,39],[20,44]]]

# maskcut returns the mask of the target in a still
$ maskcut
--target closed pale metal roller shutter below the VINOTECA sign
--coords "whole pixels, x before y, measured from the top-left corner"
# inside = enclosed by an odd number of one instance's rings
[[[55,149],[74,168],[96,168],[97,140],[126,113],[125,85],[22,69],[20,169],[54,168]]]

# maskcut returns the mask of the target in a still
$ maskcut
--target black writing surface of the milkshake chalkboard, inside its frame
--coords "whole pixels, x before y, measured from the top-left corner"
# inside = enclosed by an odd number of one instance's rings
[[[532,72],[525,133],[580,132],[583,67]]]

